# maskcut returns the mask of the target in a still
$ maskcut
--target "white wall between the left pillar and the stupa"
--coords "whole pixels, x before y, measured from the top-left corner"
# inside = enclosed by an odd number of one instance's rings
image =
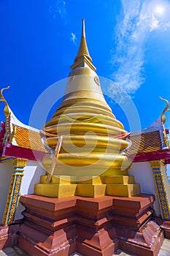
[[[23,181],[20,188],[20,195],[34,194],[34,185],[39,183],[40,176],[45,175],[45,169],[39,164],[39,162],[28,161],[24,170]],[[21,214],[24,207],[21,203],[18,204],[18,210],[15,219],[22,219]]]

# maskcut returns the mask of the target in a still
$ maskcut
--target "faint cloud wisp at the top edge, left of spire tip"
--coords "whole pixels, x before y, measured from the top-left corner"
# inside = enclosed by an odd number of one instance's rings
[[[50,0],[49,12],[52,13],[55,19],[58,15],[63,18],[66,15],[66,1],[63,0]]]

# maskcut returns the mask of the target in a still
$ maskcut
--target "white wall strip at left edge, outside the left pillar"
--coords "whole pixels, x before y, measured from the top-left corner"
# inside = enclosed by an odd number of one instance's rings
[[[12,178],[13,162],[0,163],[0,223],[4,215],[9,186]]]

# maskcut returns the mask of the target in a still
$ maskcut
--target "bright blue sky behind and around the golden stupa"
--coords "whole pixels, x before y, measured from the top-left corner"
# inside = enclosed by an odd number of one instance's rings
[[[144,129],[165,107],[158,97],[170,100],[168,0],[0,0],[0,87],[10,86],[4,92],[10,108],[28,124],[37,97],[67,77],[79,47],[82,18],[96,72],[130,95]],[[120,90],[110,86],[107,91],[112,99],[125,102]],[[111,105],[129,129],[120,108]],[[3,120],[2,103],[0,110]],[[169,128],[169,113],[166,116]],[[40,128],[38,121],[34,126]]]

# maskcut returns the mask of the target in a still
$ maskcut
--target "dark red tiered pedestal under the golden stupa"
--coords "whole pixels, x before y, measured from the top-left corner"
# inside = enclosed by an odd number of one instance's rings
[[[156,256],[163,241],[151,219],[152,195],[66,197],[26,195],[18,246],[31,256],[112,256],[117,249]]]

